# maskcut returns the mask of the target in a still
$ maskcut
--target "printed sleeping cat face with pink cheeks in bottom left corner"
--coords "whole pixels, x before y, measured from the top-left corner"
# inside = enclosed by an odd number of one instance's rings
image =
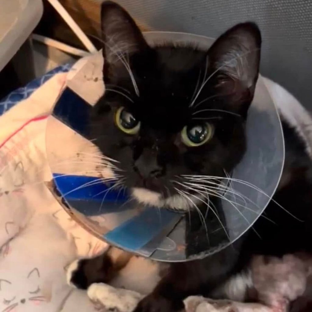
[[[40,272],[33,268],[25,276],[20,276],[18,283],[0,278],[0,306],[2,312],[22,311],[24,307],[45,304],[47,299],[42,295],[40,287]],[[25,308],[24,308],[25,309]],[[28,308],[29,309],[29,308]]]

